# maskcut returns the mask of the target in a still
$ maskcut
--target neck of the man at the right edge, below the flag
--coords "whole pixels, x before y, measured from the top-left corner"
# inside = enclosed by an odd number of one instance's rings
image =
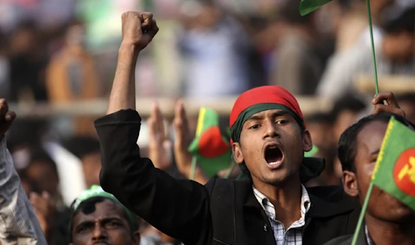
[[[376,245],[415,244],[415,224],[413,219],[401,224],[391,223],[365,215],[367,229]]]

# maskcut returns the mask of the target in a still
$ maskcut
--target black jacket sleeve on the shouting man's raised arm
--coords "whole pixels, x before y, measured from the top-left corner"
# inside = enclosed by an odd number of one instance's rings
[[[205,186],[174,179],[140,156],[137,145],[141,118],[131,109],[98,120],[102,188],[163,233],[185,244],[212,239],[210,194]]]

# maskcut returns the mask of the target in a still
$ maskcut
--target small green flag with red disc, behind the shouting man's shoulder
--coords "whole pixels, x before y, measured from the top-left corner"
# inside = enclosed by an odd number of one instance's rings
[[[201,108],[196,137],[190,144],[189,152],[196,157],[197,163],[209,177],[230,166],[230,143],[221,134],[219,115],[212,109]]]

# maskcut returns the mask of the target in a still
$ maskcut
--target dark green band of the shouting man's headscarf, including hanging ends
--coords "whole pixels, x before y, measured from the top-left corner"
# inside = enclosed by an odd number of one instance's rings
[[[285,105],[279,105],[275,103],[261,103],[257,105],[252,105],[247,109],[243,110],[241,114],[239,114],[237,120],[230,128],[232,140],[234,142],[239,142],[241,138],[241,131],[243,124],[248,120],[252,115],[257,114],[260,111],[266,111],[270,109],[282,109],[284,111],[288,111],[293,118],[297,121],[300,129],[304,130],[304,122],[302,118],[300,118],[292,109],[286,107]],[[245,163],[239,164],[239,167],[242,170],[242,174],[238,177],[238,179],[248,179],[250,178],[250,172],[248,167],[246,167]],[[319,176],[325,167],[324,158],[315,158],[315,157],[304,157],[303,163],[299,168],[299,179],[302,183],[306,183],[310,179],[313,179]]]

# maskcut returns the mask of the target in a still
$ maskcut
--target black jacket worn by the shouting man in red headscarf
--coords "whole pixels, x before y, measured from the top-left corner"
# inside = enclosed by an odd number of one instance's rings
[[[122,110],[95,121],[100,137],[102,188],[127,208],[184,244],[275,244],[272,228],[248,180],[212,179],[205,186],[178,180],[140,157],[140,116]],[[357,200],[340,186],[308,188],[303,244],[352,234]]]

